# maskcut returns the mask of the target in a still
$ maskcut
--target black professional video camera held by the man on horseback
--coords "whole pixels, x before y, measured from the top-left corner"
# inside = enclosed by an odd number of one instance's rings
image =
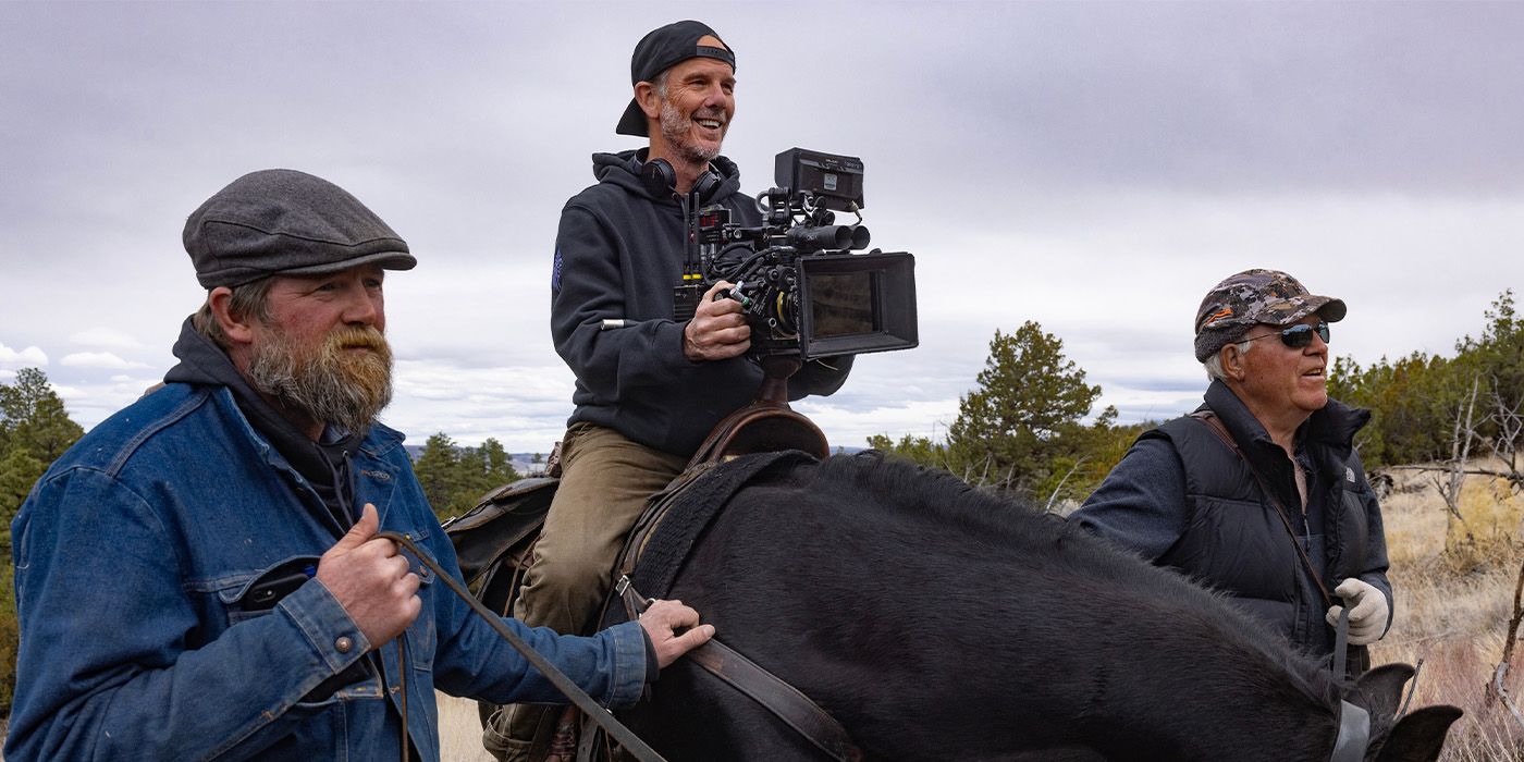
[[[751,325],[751,354],[828,355],[910,349],[916,332],[916,259],[905,251],[867,251],[863,227],[863,162],[791,148],[777,154],[779,187],[757,195],[760,227],[732,223],[722,206],[689,219],[689,261],[703,285],[677,288],[683,320],[698,296],[719,280]],[[838,226],[834,212],[856,223]],[[689,279],[693,273],[687,274]]]

